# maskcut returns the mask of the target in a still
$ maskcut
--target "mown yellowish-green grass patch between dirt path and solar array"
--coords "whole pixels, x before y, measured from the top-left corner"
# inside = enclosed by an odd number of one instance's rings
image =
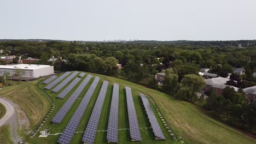
[[[30,121],[30,129],[37,127],[50,107],[49,100],[37,90],[37,83],[39,81],[40,79],[22,82],[19,85],[4,87],[0,90],[2,97],[18,104],[26,113]]]

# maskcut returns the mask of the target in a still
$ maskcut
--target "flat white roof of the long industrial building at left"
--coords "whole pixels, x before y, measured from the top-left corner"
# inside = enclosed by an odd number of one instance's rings
[[[41,65],[41,64],[14,64],[14,65],[0,65],[0,69],[41,69],[46,67],[53,67],[51,65]]]

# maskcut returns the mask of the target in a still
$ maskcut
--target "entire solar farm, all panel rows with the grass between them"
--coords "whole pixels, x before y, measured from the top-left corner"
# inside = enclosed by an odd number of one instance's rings
[[[54,102],[32,143],[180,143],[147,95],[85,72],[48,77],[39,87]]]

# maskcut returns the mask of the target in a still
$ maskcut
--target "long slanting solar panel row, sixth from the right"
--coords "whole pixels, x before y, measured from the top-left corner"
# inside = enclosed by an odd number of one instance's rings
[[[68,98],[66,103],[61,107],[61,109],[57,112],[57,114],[54,116],[53,119],[51,119],[51,122],[54,123],[61,123],[63,118],[66,116],[67,112],[71,108],[71,106],[74,104],[75,100],[78,98],[80,93],[83,91],[84,87],[87,85],[87,83],[91,79],[91,75],[88,75],[82,83],[78,86],[77,89],[72,93],[72,95]]]

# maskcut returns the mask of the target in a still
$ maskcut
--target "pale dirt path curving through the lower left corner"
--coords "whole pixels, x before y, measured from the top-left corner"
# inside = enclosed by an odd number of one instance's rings
[[[15,107],[10,103],[9,100],[0,97],[0,103],[6,109],[5,115],[0,119],[0,127],[4,124],[9,124],[10,137],[14,143],[18,143],[21,139],[18,135],[19,123],[15,112]]]

